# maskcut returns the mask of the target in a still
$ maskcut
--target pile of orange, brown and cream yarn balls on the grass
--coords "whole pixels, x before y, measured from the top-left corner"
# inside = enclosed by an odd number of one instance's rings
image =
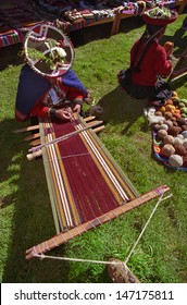
[[[187,171],[187,100],[177,96],[155,109],[152,123],[153,152],[170,168]]]

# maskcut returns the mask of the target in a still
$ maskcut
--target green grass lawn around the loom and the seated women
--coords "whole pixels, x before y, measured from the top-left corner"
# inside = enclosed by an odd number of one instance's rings
[[[175,54],[186,46],[187,36],[182,37],[179,30],[184,17],[185,14],[179,15],[162,39],[163,44],[174,41]],[[99,28],[102,32],[105,27]],[[186,282],[187,173],[170,170],[152,157],[151,127],[142,112],[145,103],[128,97],[116,81],[117,72],[128,66],[129,50],[144,29],[141,22],[132,19],[123,21],[121,32],[115,36],[87,39],[75,48],[73,69],[90,89],[92,101],[103,107],[105,129],[99,136],[137,191],[144,194],[166,184],[173,194],[159,206],[128,267],[145,283]],[[77,35],[88,35],[88,29]],[[82,36],[83,40],[85,37]],[[5,54],[1,57],[3,60]],[[39,159],[28,162],[25,157],[28,144],[23,141],[25,134],[12,133],[29,124],[17,123],[14,119],[21,66],[18,62],[0,71],[0,281],[110,282],[104,265],[37,258],[25,260],[27,248],[50,239],[55,231],[42,162]],[[186,88],[184,81],[174,87],[180,98],[187,98]],[[125,260],[155,203],[154,199],[75,237],[50,255]]]

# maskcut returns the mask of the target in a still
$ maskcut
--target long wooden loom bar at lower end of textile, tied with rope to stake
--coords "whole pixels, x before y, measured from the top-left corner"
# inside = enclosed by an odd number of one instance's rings
[[[150,191],[144,195],[140,195],[139,197],[137,197],[137,198],[124,204],[123,206],[120,206],[91,221],[88,221],[88,222],[86,222],[82,225],[78,225],[64,233],[62,232],[60,234],[57,234],[52,239],[27,249],[26,259],[30,259],[30,258],[35,257],[37,254],[42,254],[52,248],[55,248],[55,247],[62,245],[63,243],[72,240],[73,237],[80,235],[84,232],[87,232],[88,230],[90,230],[92,228],[96,228],[104,222],[108,222],[147,202],[150,202],[151,199],[153,199],[158,196],[161,196],[162,194],[164,194],[167,191],[170,191],[170,187],[167,187],[166,185],[162,185],[153,191]]]

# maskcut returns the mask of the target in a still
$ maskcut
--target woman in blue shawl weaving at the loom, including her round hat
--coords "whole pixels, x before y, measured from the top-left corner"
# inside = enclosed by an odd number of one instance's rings
[[[15,118],[32,117],[70,120],[80,113],[88,91],[71,70],[71,41],[53,26],[33,28],[24,44],[27,63],[22,68],[15,102]]]

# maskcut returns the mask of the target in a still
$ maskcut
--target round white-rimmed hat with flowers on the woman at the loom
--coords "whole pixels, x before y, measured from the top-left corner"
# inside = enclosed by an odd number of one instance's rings
[[[66,35],[49,24],[34,26],[24,42],[25,58],[29,66],[46,77],[65,74],[74,61],[74,48]]]

